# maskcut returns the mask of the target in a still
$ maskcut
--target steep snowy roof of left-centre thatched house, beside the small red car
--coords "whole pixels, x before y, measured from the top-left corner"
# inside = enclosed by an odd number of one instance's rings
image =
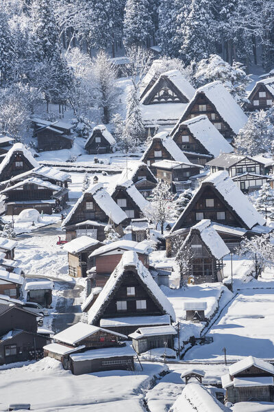
[[[68,216],[66,216],[66,218],[63,220],[62,227],[68,225],[71,218],[75,214],[75,211],[77,211],[79,205],[81,205],[82,202],[84,202],[88,194],[92,195],[93,200],[105,212],[107,216],[112,218],[116,225],[119,225],[121,222],[123,222],[123,220],[127,219],[127,215],[125,214],[125,212],[121,209],[120,206],[118,206],[114,202],[110,194],[103,188],[103,185],[101,185],[100,183],[93,185],[92,183],[90,187],[88,187],[86,192],[84,192],[82,196],[78,199],[78,201],[75,203],[73,209],[71,209]]]

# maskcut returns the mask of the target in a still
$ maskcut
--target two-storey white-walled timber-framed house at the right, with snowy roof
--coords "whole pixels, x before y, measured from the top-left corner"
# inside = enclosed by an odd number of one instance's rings
[[[272,181],[271,176],[265,174],[264,163],[253,157],[223,153],[206,164],[210,166],[212,173],[226,170],[244,193],[258,190],[264,183]]]

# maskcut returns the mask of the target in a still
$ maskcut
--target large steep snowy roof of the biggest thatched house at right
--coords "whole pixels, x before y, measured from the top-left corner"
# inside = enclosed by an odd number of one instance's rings
[[[232,181],[228,173],[225,171],[216,172],[210,174],[203,182],[201,186],[195,193],[195,196],[192,197],[190,203],[186,206],[186,209],[175,222],[175,225],[172,227],[171,232],[181,229],[182,222],[188,214],[188,211],[197,202],[201,190],[206,186],[210,186],[214,189],[216,194],[220,196],[223,203],[227,205],[227,208],[237,216],[238,221],[241,222],[242,227],[251,229],[255,225],[264,225],[265,220],[263,216],[255,209],[252,203],[249,201],[249,198],[245,196],[238,188],[238,186]]]

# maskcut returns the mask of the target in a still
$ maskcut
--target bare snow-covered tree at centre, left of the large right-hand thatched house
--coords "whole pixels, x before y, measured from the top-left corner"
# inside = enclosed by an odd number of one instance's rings
[[[151,191],[151,203],[143,211],[145,217],[153,222],[155,228],[160,225],[161,233],[164,233],[164,223],[171,220],[174,215],[174,195],[169,183],[160,181]]]

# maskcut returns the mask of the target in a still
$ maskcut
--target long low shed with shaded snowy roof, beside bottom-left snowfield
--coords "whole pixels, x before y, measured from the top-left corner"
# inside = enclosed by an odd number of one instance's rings
[[[136,352],[129,343],[71,354],[71,371],[74,375],[110,370],[134,371],[134,356]]]

